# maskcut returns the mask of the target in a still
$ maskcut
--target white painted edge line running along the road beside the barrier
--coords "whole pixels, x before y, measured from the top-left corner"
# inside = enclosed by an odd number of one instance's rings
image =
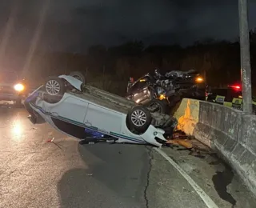
[[[202,190],[202,188],[198,186],[198,184],[194,182],[194,180],[188,174],[186,174],[185,170],[183,170],[180,166],[178,166],[178,164],[174,162],[172,158],[170,158],[165,152],[163,152],[157,147],[154,147],[154,150],[156,150],[158,154],[161,154],[163,158],[165,158],[168,162],[170,162],[170,165],[174,166],[174,168],[178,170],[180,174],[182,174],[183,178],[185,178],[186,181],[190,183],[190,186],[192,186],[193,189],[198,193],[198,195],[200,196],[200,198],[202,198],[202,201],[205,202],[208,208],[218,208],[218,206],[206,194],[206,192],[204,192],[204,190]]]

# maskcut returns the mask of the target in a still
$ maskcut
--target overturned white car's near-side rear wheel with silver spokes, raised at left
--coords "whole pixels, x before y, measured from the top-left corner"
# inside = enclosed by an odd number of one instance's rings
[[[46,102],[56,103],[59,102],[62,99],[63,94],[65,94],[66,86],[61,78],[50,77],[46,80],[44,90],[46,94],[44,94],[43,99]]]

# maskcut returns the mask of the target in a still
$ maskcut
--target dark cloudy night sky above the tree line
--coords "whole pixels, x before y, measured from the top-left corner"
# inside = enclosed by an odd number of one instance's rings
[[[253,28],[256,1],[249,3]],[[46,51],[84,53],[94,44],[130,40],[186,46],[202,38],[238,37],[238,0],[2,0],[0,34],[8,37],[6,53],[28,50],[40,17],[42,32],[35,46]]]

